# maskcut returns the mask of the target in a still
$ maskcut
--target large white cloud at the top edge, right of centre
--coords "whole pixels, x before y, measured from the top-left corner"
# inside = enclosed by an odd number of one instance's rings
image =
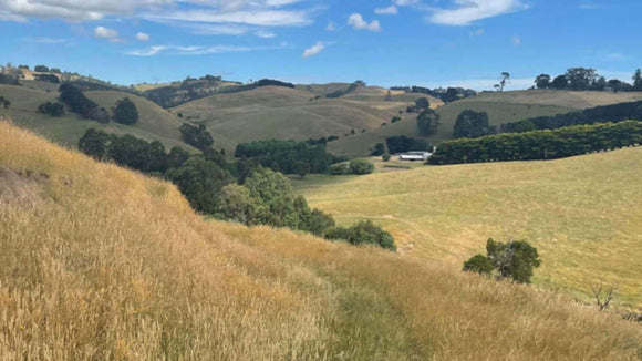
[[[428,20],[443,25],[468,25],[477,20],[526,10],[521,0],[453,0],[454,8],[433,8]]]

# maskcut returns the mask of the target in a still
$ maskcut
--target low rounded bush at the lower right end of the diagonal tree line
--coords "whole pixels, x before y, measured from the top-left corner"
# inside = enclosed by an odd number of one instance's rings
[[[394,237],[370,220],[360,221],[350,228],[333,228],[325,238],[343,239],[351,245],[373,245],[384,249],[396,250]]]

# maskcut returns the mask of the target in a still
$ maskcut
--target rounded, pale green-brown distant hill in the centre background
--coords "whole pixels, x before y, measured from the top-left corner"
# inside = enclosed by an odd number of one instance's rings
[[[263,138],[344,137],[352,130],[358,133],[375,130],[408,105],[405,99],[384,102],[383,95],[369,97],[370,101],[349,96],[310,101],[313,96],[304,89],[266,86],[197,100],[173,112],[242,143]]]

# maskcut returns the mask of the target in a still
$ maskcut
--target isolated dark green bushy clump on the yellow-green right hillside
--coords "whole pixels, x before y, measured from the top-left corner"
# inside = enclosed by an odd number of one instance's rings
[[[482,275],[496,271],[498,279],[511,278],[518,283],[530,283],[535,268],[541,265],[537,248],[524,240],[486,243],[486,256],[476,255],[464,262],[464,270]]]

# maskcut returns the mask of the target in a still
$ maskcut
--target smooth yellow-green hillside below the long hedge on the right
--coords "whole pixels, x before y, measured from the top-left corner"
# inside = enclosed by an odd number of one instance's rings
[[[587,300],[591,285],[613,285],[619,306],[639,309],[641,177],[638,147],[550,162],[424,166],[293,184],[311,206],[341,223],[383,224],[405,254],[460,266],[484,252],[487,238],[524,239],[543,259],[535,283]]]

